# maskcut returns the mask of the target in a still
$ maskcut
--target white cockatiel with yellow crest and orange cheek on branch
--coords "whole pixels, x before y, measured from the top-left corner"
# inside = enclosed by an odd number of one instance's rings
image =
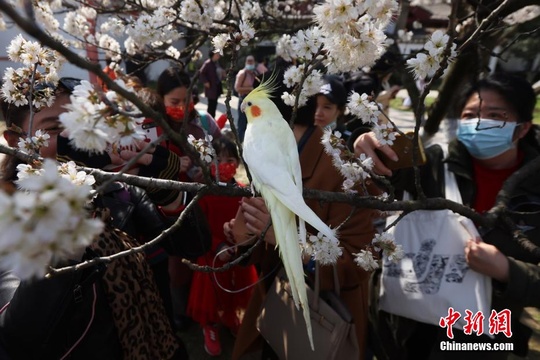
[[[252,186],[260,192],[270,212],[293,299],[297,308],[302,307],[314,349],[299,236],[306,238],[305,223],[308,222],[325,236],[337,239],[335,231],[304,201],[298,146],[289,124],[270,100],[274,90],[272,82],[272,78],[263,82],[242,102],[241,110],[248,120],[242,154],[252,177]]]

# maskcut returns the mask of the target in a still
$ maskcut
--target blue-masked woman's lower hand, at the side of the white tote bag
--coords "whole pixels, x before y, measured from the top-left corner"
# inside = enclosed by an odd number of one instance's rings
[[[465,246],[465,259],[472,270],[500,282],[508,282],[510,268],[508,258],[495,246],[469,240]]]

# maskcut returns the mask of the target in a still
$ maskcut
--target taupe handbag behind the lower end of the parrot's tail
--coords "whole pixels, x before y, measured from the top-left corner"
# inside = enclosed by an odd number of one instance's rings
[[[315,289],[307,287],[315,349],[311,349],[302,309],[297,309],[282,269],[263,301],[257,329],[282,360],[358,359],[359,348],[353,318],[339,297],[334,267],[334,291],[320,291],[319,264],[315,266]]]

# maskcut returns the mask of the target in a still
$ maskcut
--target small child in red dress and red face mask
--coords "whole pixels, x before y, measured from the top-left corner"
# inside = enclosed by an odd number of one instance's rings
[[[217,169],[212,164],[212,175],[229,185],[238,185],[234,179],[240,163],[236,145],[226,137],[213,141],[217,153]],[[217,171],[216,171],[217,170]],[[223,266],[234,255],[233,244],[223,233],[223,224],[234,218],[241,197],[205,196],[199,203],[205,212],[212,231],[212,249],[197,259],[199,265]],[[240,312],[245,310],[251,297],[251,285],[257,281],[257,271],[253,265],[234,266],[225,272],[195,272],[193,275],[188,315],[197,321],[204,336],[204,347],[208,354],[221,353],[218,324],[236,333],[240,325]]]

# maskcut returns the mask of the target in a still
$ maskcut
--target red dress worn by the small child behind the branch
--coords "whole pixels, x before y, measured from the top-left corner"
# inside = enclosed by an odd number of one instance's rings
[[[209,195],[199,201],[212,230],[212,249],[197,259],[198,265],[223,266],[224,263],[216,256],[216,250],[226,243],[223,224],[235,217],[240,200],[241,197]],[[257,279],[253,265],[236,265],[225,272],[195,271],[189,294],[188,315],[202,326],[220,323],[235,331],[241,323],[243,310]]]

